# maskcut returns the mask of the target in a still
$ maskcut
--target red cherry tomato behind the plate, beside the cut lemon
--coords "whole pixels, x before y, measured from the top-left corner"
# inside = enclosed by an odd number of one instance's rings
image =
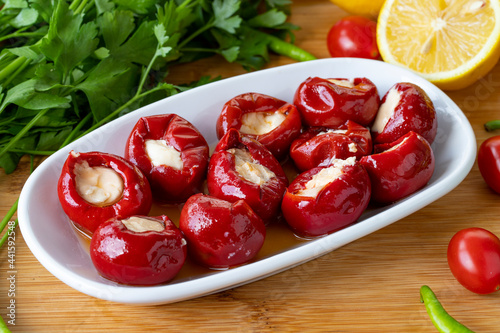
[[[379,59],[377,23],[362,16],[348,16],[331,27],[327,36],[332,57]]]

